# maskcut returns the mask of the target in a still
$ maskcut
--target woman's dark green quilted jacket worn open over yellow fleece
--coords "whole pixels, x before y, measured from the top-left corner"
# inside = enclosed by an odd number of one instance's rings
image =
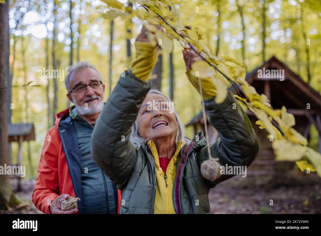
[[[142,102],[151,82],[137,78],[130,70],[120,76],[91,135],[93,160],[121,190],[120,214],[153,214],[156,167],[146,145],[135,150],[129,142]],[[235,103],[235,104],[234,104]],[[220,138],[210,144],[211,154],[221,165],[249,166],[258,152],[251,123],[229,91],[221,104],[204,101],[209,122]],[[233,109],[233,107],[236,109]],[[221,175],[215,181],[202,177],[200,166],[207,160],[206,139],[202,132],[178,154],[172,200],[178,214],[209,214],[210,188],[235,175]]]

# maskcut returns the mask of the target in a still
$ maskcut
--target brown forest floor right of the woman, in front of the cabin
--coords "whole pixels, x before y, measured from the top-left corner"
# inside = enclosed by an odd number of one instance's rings
[[[273,179],[251,187],[229,181],[210,190],[212,214],[321,214],[321,181],[289,185]]]

